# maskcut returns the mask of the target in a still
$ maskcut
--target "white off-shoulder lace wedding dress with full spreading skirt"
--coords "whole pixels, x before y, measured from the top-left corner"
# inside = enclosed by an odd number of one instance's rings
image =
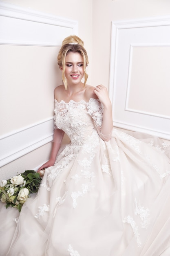
[[[102,111],[95,99],[55,101],[55,126],[71,142],[19,220],[1,204],[1,256],[170,255],[168,145],[116,129],[102,140]]]

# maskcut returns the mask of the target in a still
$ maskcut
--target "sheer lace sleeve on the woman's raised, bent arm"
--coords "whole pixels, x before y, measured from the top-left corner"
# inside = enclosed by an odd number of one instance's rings
[[[109,141],[112,135],[112,130],[110,130],[109,134],[102,133],[102,121],[103,121],[103,105],[99,100],[90,99],[88,104],[88,114],[93,118],[95,128],[104,141]]]

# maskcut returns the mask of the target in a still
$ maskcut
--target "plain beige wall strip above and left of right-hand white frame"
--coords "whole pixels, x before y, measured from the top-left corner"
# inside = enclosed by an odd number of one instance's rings
[[[169,0],[93,0],[92,84],[109,84],[111,21],[167,15]]]

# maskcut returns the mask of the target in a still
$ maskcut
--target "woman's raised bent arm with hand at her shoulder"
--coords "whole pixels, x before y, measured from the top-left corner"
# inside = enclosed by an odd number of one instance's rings
[[[99,101],[104,106],[102,127],[99,131],[104,141],[109,141],[113,130],[112,104],[108,97],[107,88],[104,85],[98,85],[94,89]]]

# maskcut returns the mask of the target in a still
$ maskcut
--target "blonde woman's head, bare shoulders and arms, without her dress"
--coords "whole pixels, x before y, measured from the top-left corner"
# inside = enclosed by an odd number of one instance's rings
[[[101,136],[103,135],[102,139],[106,141],[109,140],[113,129],[111,102],[108,97],[107,89],[103,85],[98,85],[94,88],[93,86],[86,84],[88,78],[88,75],[86,74],[88,56],[80,38],[77,36],[65,38],[62,48],[58,54],[58,65],[62,70],[62,79],[64,84],[58,86],[54,91],[56,104],[61,101],[69,103],[71,100],[77,103],[79,101],[85,101],[88,103],[90,99],[99,99],[103,105],[104,112],[102,126],[97,127],[97,130]],[[85,81],[82,83],[84,76]],[[76,118],[75,122],[77,121],[78,120]],[[55,126],[57,126],[56,122]],[[42,168],[54,165],[63,136],[64,132],[61,129],[55,129],[51,157],[46,164],[39,168],[38,171]]]

